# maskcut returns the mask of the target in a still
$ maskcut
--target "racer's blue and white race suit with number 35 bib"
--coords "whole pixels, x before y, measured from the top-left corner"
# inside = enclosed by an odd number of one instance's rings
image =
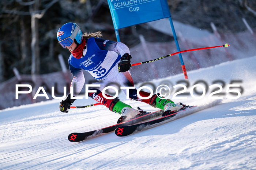
[[[118,83],[120,86],[134,86],[130,72],[119,73],[117,65],[122,55],[130,54],[129,48],[116,41],[104,40],[100,38],[89,38],[86,40],[86,48],[83,51],[83,56],[76,59],[72,54],[70,55],[69,69],[74,76],[71,86],[77,96],[83,88],[85,79],[82,69],[88,71],[100,84],[101,87],[95,87],[102,91],[109,82]],[[126,91],[124,90],[125,94]],[[131,97],[133,93],[130,94]],[[134,92],[134,99],[138,99]]]

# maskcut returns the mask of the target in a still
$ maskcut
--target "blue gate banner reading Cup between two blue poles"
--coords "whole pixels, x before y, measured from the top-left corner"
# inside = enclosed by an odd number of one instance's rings
[[[114,29],[170,17],[167,0],[108,0]]]

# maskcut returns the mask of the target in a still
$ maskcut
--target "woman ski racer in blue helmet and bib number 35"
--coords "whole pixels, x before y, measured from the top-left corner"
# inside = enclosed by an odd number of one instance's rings
[[[118,98],[106,99],[102,95],[102,90],[109,83],[117,83],[120,87],[134,87],[131,77],[130,62],[131,54],[129,48],[116,41],[104,40],[101,32],[82,33],[80,27],[75,23],[66,23],[62,25],[57,32],[57,39],[63,48],[68,48],[71,55],[68,59],[69,69],[74,76],[71,86],[77,92],[77,96],[84,86],[84,75],[82,69],[88,71],[98,82],[100,87],[92,87],[88,95],[97,102],[102,103],[109,108],[110,111],[121,114],[118,123],[134,118],[139,111],[135,110],[128,104],[121,102]],[[126,94],[126,89],[123,90]],[[140,96],[147,97],[148,92],[140,91]],[[106,94],[106,96],[111,97]],[[164,110],[167,115],[172,111],[178,111],[183,107],[179,104],[174,104],[172,100],[159,98],[154,94],[150,99],[140,99],[136,89],[129,89],[129,98],[148,103],[153,107]],[[75,99],[71,99],[68,94],[65,100],[60,102],[60,111],[68,112],[71,104]]]

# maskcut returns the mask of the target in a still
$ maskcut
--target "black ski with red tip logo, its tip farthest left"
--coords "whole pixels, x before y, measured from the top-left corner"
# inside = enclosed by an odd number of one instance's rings
[[[158,110],[155,112],[145,114],[138,118],[134,118],[134,119],[128,120],[123,123],[114,124],[113,126],[105,127],[102,129],[97,129],[97,130],[88,131],[88,132],[84,132],[84,133],[71,133],[68,135],[68,140],[70,142],[81,142],[81,141],[84,141],[87,139],[98,137],[98,136],[106,134],[106,133],[110,133],[110,132],[114,131],[119,126],[128,126],[128,125],[139,123],[139,122],[151,119],[151,118],[155,118],[157,116],[162,115],[162,113],[163,113],[163,110]]]

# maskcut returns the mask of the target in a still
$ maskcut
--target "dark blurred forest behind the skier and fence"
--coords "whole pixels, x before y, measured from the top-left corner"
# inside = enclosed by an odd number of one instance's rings
[[[168,0],[168,4],[173,20],[210,32],[211,22],[222,33],[245,31],[242,17],[256,28],[255,0]],[[1,0],[0,82],[14,76],[14,67],[20,74],[61,71],[58,55],[68,59],[70,52],[59,45],[56,33],[68,22],[77,23],[82,32],[100,30],[103,39],[116,41],[106,0]],[[140,43],[139,34],[150,42],[173,40],[145,24],[119,33],[128,47]]]

